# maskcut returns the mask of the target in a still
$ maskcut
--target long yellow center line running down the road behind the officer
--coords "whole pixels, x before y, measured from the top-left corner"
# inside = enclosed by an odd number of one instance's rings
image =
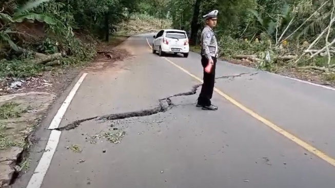
[[[148,39],[146,38],[147,43],[149,45],[150,48],[151,45],[149,44]],[[172,65],[178,67],[179,69],[181,69],[182,71],[184,71],[185,73],[187,73],[189,76],[191,76],[192,78],[194,78],[195,80],[198,80],[199,82],[203,83],[203,80],[196,77],[194,74],[190,73],[189,71],[187,71],[186,69],[184,69],[183,67],[173,63],[172,61],[168,60],[167,58],[164,58],[166,61],[168,61],[169,63],[171,63]],[[328,162],[329,164],[331,164],[332,166],[335,166],[335,159],[329,157],[328,155],[326,155],[325,153],[321,152],[319,149],[317,149],[316,147],[313,147],[312,145],[308,144],[307,142],[301,140],[300,138],[292,135],[291,133],[289,133],[288,131],[282,129],[281,127],[279,127],[278,125],[275,125],[274,123],[272,123],[271,121],[263,118],[262,116],[260,116],[259,114],[257,114],[256,112],[252,111],[251,109],[245,107],[243,104],[239,103],[238,101],[234,100],[233,98],[231,98],[230,96],[228,96],[226,93],[224,93],[223,91],[221,91],[220,89],[214,87],[214,91],[217,92],[220,96],[224,97],[227,101],[231,102],[232,104],[234,104],[235,106],[239,107],[240,109],[242,109],[243,111],[245,111],[247,114],[249,114],[250,116],[252,116],[253,118],[259,120],[260,122],[264,123],[266,126],[272,128],[273,130],[275,130],[277,133],[280,133],[281,135],[283,135],[284,137],[290,139],[291,141],[293,141],[294,143],[300,145],[301,147],[303,147],[304,149],[306,149],[308,152],[318,156],[319,158],[323,159],[324,161]]]

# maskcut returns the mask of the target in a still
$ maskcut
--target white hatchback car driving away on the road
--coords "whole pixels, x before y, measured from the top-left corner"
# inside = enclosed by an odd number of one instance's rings
[[[190,46],[186,31],[178,29],[164,29],[153,36],[152,53],[159,52],[160,56],[164,53],[182,53],[188,57]]]

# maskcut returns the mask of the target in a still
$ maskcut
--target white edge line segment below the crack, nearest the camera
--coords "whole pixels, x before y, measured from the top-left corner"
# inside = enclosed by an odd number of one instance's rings
[[[52,130],[49,136],[45,152],[43,153],[40,162],[38,162],[35,171],[30,178],[27,188],[40,188],[51,163],[51,159],[56,151],[58,142],[60,141],[62,131]]]

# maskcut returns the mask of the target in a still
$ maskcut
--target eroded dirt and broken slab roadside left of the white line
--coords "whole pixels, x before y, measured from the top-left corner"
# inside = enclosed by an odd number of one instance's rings
[[[88,67],[112,67],[115,61],[129,57],[126,50],[116,50],[128,36],[108,45],[98,46],[96,58]],[[103,51],[103,52],[102,52]],[[106,52],[104,52],[106,51]],[[50,107],[85,67],[59,68],[24,80],[2,81],[0,96],[0,187],[7,187],[29,170],[31,146],[40,138],[38,128]]]

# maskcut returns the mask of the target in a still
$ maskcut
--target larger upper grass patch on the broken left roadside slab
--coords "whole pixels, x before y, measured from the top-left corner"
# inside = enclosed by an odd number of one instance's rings
[[[0,119],[19,118],[25,111],[18,103],[6,102],[0,106]]]

